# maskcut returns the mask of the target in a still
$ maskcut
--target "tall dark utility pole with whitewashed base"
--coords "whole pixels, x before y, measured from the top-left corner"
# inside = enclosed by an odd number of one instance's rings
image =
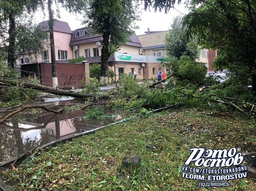
[[[53,24],[54,19],[52,15],[52,2],[48,0],[48,11],[49,11],[49,32],[50,32],[50,47],[51,47],[51,62],[52,62],[52,82],[53,87],[58,86],[58,78],[57,78],[57,71],[56,71],[56,57],[55,57],[55,45],[54,45],[54,35],[53,35]]]

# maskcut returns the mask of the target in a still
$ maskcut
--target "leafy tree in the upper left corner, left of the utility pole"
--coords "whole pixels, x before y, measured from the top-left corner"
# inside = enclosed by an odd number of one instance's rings
[[[41,3],[39,4],[41,5]],[[1,40],[4,51],[8,55],[8,63],[12,68],[20,55],[31,52],[38,53],[43,49],[42,43],[38,43],[38,41],[42,40],[45,33],[29,22],[32,19],[24,21],[29,16],[26,13],[31,11],[35,11],[35,6],[28,0],[0,1]]]

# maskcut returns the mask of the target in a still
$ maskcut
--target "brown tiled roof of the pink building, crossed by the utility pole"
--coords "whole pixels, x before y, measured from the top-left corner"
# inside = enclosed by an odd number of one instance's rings
[[[43,31],[45,32],[49,31],[48,21],[49,20],[39,22],[39,25],[42,26]],[[70,29],[68,23],[57,19],[54,19],[53,31],[72,34],[72,30]]]

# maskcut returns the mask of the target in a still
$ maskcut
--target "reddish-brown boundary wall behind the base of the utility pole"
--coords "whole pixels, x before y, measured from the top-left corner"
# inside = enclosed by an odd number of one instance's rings
[[[41,63],[41,83],[52,87],[52,66],[49,63]],[[85,64],[83,63],[57,63],[58,84],[60,88],[80,87],[80,81],[84,77]],[[89,71],[85,71],[88,73]],[[70,80],[69,80],[70,79]],[[69,82],[69,84],[68,84]],[[66,84],[65,84],[66,83]]]

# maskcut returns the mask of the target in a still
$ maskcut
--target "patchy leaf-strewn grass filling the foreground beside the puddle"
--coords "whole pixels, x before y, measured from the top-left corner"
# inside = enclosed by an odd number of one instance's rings
[[[248,119],[230,113],[176,109],[119,123],[56,147],[38,149],[2,176],[17,190],[256,190],[249,178],[230,187],[198,187],[181,177],[190,147],[253,151],[255,131]],[[146,149],[153,144],[155,150]],[[121,166],[139,155],[139,167]]]

